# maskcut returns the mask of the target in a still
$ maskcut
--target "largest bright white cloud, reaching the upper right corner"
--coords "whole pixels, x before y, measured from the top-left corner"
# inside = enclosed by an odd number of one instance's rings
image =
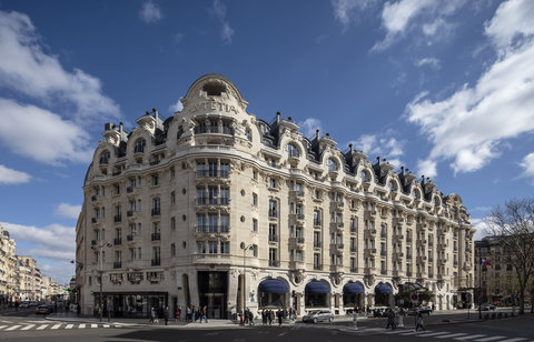
[[[419,125],[433,143],[428,159],[452,160],[455,173],[479,170],[501,155],[506,139],[534,131],[534,39],[528,36],[534,21],[516,14],[532,11],[532,2],[514,4],[511,11],[503,10],[508,2],[502,3],[486,27],[520,20],[516,29],[503,29],[506,34],[486,29],[498,58],[476,84],[465,84],[442,101],[422,93],[406,107],[407,120]],[[517,34],[523,37],[521,41],[514,40]],[[505,42],[508,46],[503,46]]]

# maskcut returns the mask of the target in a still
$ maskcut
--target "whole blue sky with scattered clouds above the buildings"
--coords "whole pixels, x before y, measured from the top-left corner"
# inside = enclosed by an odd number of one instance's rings
[[[528,0],[2,0],[0,222],[67,282],[103,123],[169,117],[216,72],[250,113],[431,177],[483,228],[533,192],[532,18]]]

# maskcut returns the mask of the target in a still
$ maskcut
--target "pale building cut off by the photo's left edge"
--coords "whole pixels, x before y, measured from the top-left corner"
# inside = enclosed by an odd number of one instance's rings
[[[0,303],[9,302],[17,290],[16,245],[0,224]]]

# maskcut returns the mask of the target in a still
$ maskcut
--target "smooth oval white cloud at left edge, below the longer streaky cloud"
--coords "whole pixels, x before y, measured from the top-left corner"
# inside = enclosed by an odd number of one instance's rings
[[[34,105],[0,99],[0,141],[14,153],[59,165],[92,158],[89,135],[78,124]]]

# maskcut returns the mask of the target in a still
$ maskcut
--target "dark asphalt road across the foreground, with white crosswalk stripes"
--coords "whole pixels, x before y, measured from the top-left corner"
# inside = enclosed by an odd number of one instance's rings
[[[340,342],[340,341],[476,341],[476,342],[531,342],[534,341],[534,316],[522,316],[462,324],[428,325],[426,331],[413,332],[413,328],[385,330],[385,320],[355,330],[350,324],[295,324],[253,328],[228,326],[214,329],[205,325],[177,326],[120,326],[106,323],[80,324],[44,321],[28,312],[0,316],[0,341],[231,341],[231,342]],[[436,315],[437,318],[438,315]],[[8,323],[9,322],[9,323]],[[37,330],[39,326],[47,328]],[[40,325],[41,324],[41,325]],[[13,329],[13,326],[17,326]],[[70,325],[70,326],[69,326]],[[83,326],[80,326],[83,325]],[[106,326],[107,325],[107,326]],[[27,330],[23,330],[24,328]],[[52,329],[56,326],[56,329]],[[12,330],[8,330],[12,329]]]

